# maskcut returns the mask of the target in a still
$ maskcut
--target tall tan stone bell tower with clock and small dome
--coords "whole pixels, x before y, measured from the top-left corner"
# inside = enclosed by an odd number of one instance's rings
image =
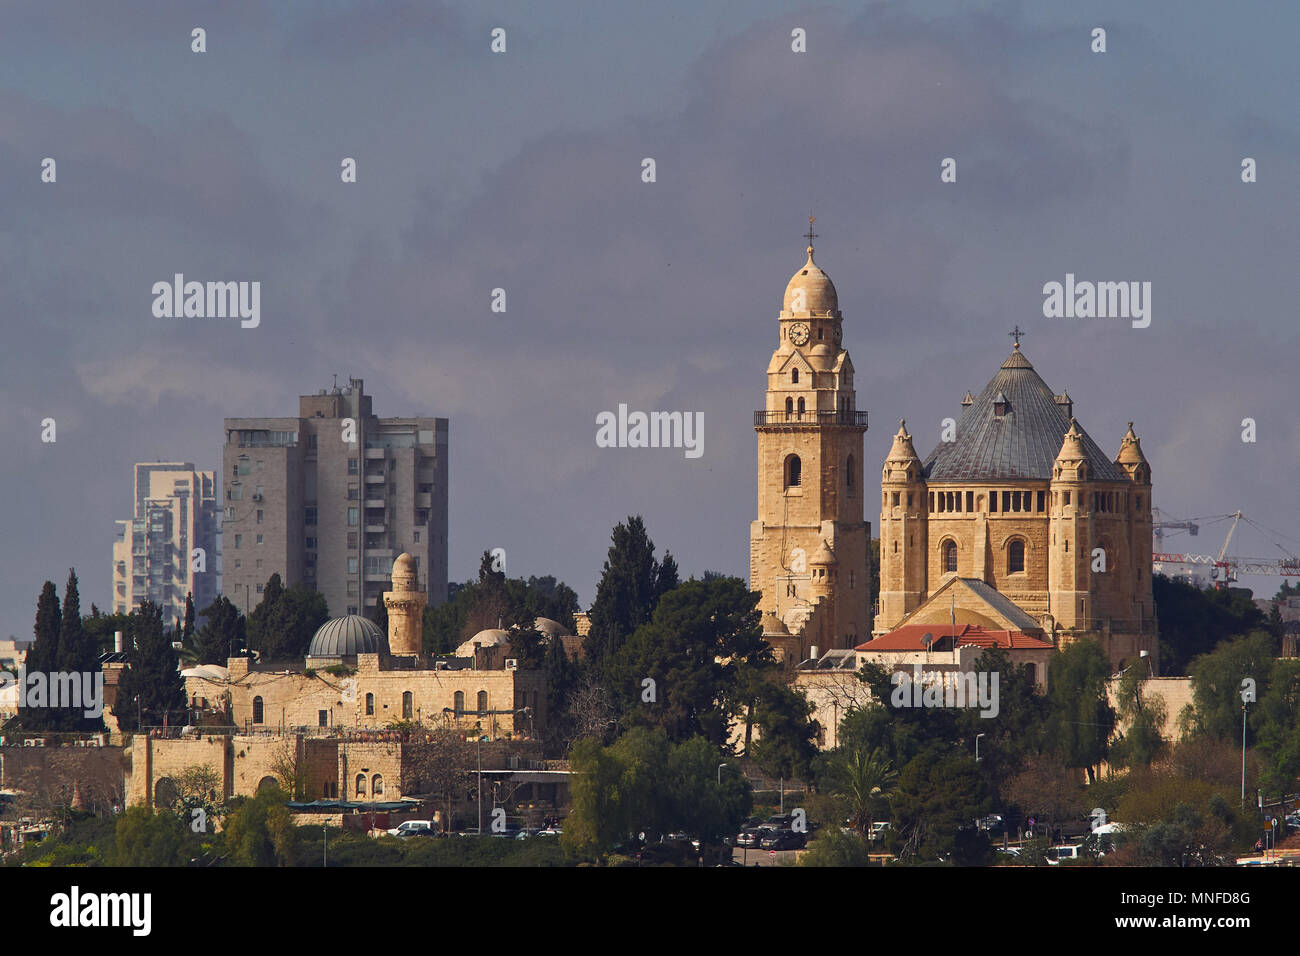
[[[750,587],[798,639],[800,653],[870,640],[871,525],[863,520],[862,436],[853,362],[831,277],[812,259],[785,287],[758,433],[758,519]]]

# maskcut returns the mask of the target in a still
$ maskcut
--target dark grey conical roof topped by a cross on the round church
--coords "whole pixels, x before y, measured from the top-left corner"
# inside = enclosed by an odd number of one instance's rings
[[[1006,414],[994,405],[1006,402]],[[1065,433],[1069,406],[1057,403],[1052,389],[1034,371],[1017,345],[997,375],[957,423],[957,440],[939,442],[926,459],[931,481],[975,479],[1049,480]],[[1095,481],[1124,481],[1126,476],[1088,433],[1079,428]]]

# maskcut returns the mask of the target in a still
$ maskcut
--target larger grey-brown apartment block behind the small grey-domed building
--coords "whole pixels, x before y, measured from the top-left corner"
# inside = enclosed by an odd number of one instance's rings
[[[298,418],[226,419],[222,593],[254,609],[272,574],[370,615],[393,561],[447,600],[447,419],[380,419],[360,378],[302,395]]]

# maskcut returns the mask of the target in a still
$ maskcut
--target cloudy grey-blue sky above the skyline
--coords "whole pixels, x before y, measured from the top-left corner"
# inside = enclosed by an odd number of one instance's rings
[[[1164,512],[1240,509],[1274,531],[1231,551],[1300,551],[1297,27],[1270,3],[3,1],[0,633],[69,567],[109,605],[134,462],[220,471],[224,418],[334,375],[450,419],[452,580],[503,548],[586,606],[630,514],[684,575],[745,576],[810,212],[868,464],[904,418],[933,447],[1018,325],[1104,450],[1135,423]],[[177,272],[260,281],[260,325],[155,317]],[[1150,325],[1045,317],[1067,273],[1149,281]],[[701,412],[703,454],[598,447],[620,403]]]

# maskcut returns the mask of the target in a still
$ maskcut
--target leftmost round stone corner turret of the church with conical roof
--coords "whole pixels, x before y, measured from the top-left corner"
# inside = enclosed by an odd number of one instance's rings
[[[880,473],[880,611],[875,632],[884,633],[926,597],[930,501],[926,472],[907,433],[898,423],[893,447]]]

